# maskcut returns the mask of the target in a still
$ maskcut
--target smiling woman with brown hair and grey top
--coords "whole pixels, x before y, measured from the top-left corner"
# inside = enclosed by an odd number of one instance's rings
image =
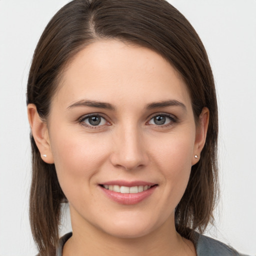
[[[218,190],[215,88],[166,1],[66,4],[35,49],[27,109],[40,255],[239,255],[199,234]]]

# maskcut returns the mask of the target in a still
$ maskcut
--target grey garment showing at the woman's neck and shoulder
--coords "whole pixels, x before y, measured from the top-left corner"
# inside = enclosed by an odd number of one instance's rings
[[[56,256],[62,256],[64,243],[72,236],[72,232],[65,234],[59,240],[59,246]],[[238,253],[235,249],[225,245],[224,243],[214,240],[202,234],[196,233],[196,254],[197,256],[246,256]],[[248,255],[247,255],[248,256]]]

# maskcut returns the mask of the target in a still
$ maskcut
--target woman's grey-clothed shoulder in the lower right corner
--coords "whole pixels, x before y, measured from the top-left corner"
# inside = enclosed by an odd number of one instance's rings
[[[202,234],[197,235],[196,253],[197,256],[246,256],[238,253],[234,248],[224,244],[223,242]]]

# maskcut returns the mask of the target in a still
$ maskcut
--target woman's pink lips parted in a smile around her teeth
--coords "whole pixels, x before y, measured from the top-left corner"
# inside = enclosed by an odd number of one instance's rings
[[[157,187],[157,184],[146,181],[125,181],[114,180],[102,183],[104,185],[119,185],[119,186],[138,186],[138,185],[150,185],[151,187],[145,191],[138,193],[119,193],[112,190],[108,190],[99,184],[101,191],[111,200],[119,204],[136,204],[149,197]]]

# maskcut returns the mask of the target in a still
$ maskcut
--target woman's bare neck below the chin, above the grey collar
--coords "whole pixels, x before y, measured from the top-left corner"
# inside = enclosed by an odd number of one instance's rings
[[[88,222],[81,225],[72,221],[72,230],[73,235],[64,245],[63,256],[196,255],[193,244],[176,232],[174,216],[140,237],[117,237]]]

